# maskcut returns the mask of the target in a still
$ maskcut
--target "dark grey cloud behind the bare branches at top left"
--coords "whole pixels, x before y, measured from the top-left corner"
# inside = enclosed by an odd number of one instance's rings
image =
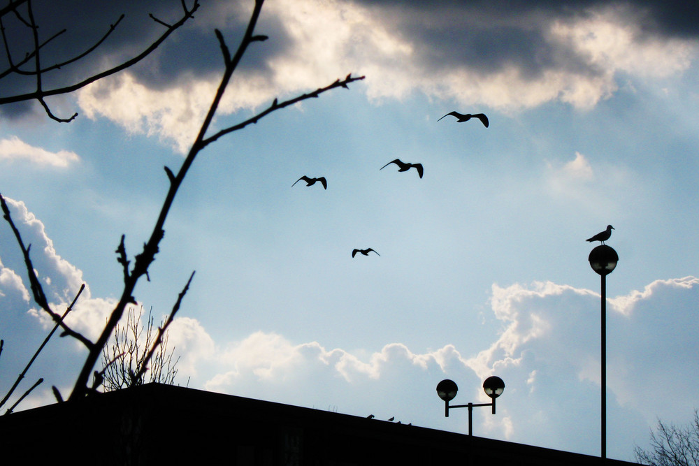
[[[191,7],[193,2],[187,0],[186,3]],[[32,4],[36,24],[39,25],[40,41],[45,41],[66,29],[41,49],[42,67],[71,59],[89,49],[109,31],[111,24],[115,24],[120,16],[124,15],[117,28],[94,52],[80,61],[45,73],[42,78],[44,89],[80,82],[145,50],[165,30],[163,25],[152,20],[151,13],[158,20],[168,24],[178,21],[183,14],[180,0],[44,0],[34,1]],[[140,82],[152,88],[176,85],[181,75],[203,76],[219,73],[223,61],[214,29],[222,29],[231,53],[235,52],[247,26],[247,9],[249,8],[243,8],[238,14],[238,2],[222,5],[204,0],[194,19],[171,34],[157,50],[133,66],[130,71]],[[26,6],[20,7],[20,15],[26,20]],[[222,17],[217,18],[216,15]],[[31,32],[13,14],[5,15],[2,20],[10,52],[16,63],[32,50]],[[267,41],[263,46],[259,43],[253,44],[240,64],[243,70],[264,67],[268,57],[284,52],[289,43],[283,34],[283,28],[273,17],[263,15],[257,29],[259,34],[271,36],[273,40]],[[0,71],[8,66],[8,57],[4,53],[0,54]],[[34,68],[34,61],[22,68],[30,71]],[[34,90],[36,78],[13,74],[1,80],[0,96],[24,94]],[[27,111],[27,107],[20,105],[10,113],[24,111]]]

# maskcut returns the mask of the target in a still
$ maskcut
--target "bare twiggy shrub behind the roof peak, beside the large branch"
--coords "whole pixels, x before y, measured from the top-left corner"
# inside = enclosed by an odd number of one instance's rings
[[[167,332],[164,333],[150,364],[146,361],[155,343],[155,319],[152,310],[149,311],[147,324],[144,325],[142,316],[143,307],[140,307],[138,314],[134,307],[129,307],[126,323],[114,329],[113,344],[102,350],[102,370],[98,374],[102,378],[103,391],[129,388],[146,381],[168,385],[175,383],[178,372],[175,366],[180,358],[173,361],[174,347],[168,352]],[[161,326],[162,321],[159,327]]]

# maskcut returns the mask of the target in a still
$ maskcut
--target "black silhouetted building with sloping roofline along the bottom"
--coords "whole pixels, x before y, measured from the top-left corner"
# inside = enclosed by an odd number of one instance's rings
[[[596,456],[161,384],[0,416],[0,445],[3,459],[17,458],[16,464],[602,463]]]

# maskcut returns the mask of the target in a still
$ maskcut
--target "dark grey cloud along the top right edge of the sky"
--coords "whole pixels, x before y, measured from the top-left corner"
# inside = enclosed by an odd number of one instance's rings
[[[406,41],[417,44],[421,61],[435,73],[468,64],[484,74],[514,66],[525,79],[552,68],[596,75],[600,71],[584,57],[561,43],[552,44],[547,34],[553,22],[570,23],[605,8],[626,8],[625,20],[636,22],[647,37],[699,37],[696,2],[354,1],[374,10]]]

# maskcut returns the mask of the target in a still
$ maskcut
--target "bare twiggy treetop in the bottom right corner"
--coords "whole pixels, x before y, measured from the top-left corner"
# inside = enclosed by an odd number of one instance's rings
[[[699,466],[699,412],[684,426],[663,423],[658,419],[651,431],[651,449],[635,446],[638,463],[651,466]]]

